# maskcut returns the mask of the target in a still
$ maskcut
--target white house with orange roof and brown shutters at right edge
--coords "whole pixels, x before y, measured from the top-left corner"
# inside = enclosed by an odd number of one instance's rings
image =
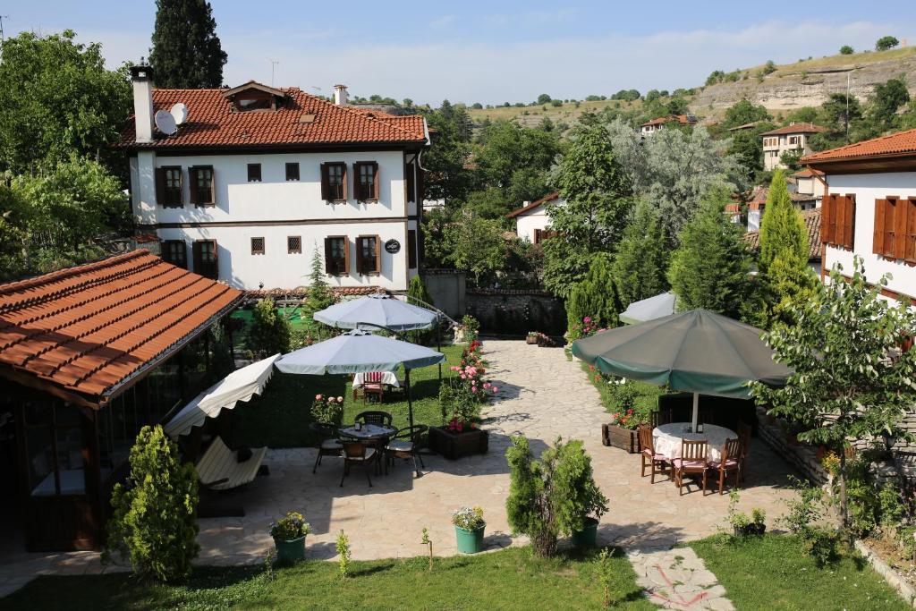
[[[916,129],[802,158],[823,172],[823,268],[849,274],[861,256],[869,282],[892,278],[882,293],[916,303]]]

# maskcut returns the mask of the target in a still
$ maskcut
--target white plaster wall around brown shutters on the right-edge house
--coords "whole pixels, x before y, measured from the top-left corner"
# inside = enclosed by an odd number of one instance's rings
[[[824,250],[824,267],[829,271],[834,263],[843,266],[845,274],[852,273],[853,256],[861,256],[869,282],[877,283],[885,273],[892,275],[888,289],[916,297],[916,267],[890,261],[872,253],[875,228],[875,200],[888,195],[916,197],[916,172],[881,174],[847,174],[827,176],[830,192],[837,195],[855,193],[856,229],[855,252],[828,245]]]

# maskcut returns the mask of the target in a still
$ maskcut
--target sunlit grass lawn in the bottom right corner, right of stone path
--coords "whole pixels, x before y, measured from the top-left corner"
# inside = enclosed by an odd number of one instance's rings
[[[791,535],[691,543],[738,609],[908,609],[867,561],[845,555],[819,569]]]

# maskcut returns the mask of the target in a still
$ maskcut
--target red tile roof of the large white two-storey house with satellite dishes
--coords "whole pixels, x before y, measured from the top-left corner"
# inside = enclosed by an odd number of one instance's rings
[[[414,143],[426,141],[420,115],[388,115],[381,111],[338,106],[296,88],[282,90],[285,104],[277,111],[237,112],[224,89],[155,89],[155,110],[172,104],[188,106],[188,119],[178,133],[156,132],[151,143],[137,143],[131,117],[118,147],[258,147],[362,143]],[[303,114],[315,115],[300,123]]]

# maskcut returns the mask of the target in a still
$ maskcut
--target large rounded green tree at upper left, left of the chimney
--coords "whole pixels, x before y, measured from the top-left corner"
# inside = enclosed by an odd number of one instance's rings
[[[69,29],[45,37],[23,32],[3,43],[0,171],[52,167],[74,154],[124,165],[108,145],[130,115],[130,82],[124,71],[105,70],[100,44],[74,38]]]

